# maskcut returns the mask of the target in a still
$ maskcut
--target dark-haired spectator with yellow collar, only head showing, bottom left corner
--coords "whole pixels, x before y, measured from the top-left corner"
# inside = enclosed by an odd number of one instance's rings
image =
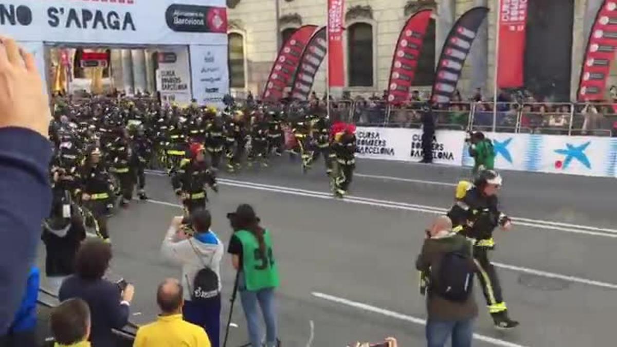
[[[54,347],[90,347],[90,309],[86,301],[73,298],[51,311],[49,327]]]

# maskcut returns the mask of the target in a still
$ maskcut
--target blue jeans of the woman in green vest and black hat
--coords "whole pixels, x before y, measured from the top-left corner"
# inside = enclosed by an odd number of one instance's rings
[[[244,276],[239,278],[240,301],[246,316],[246,323],[249,329],[249,339],[251,347],[262,347],[262,331],[259,325],[259,310],[262,309],[263,320],[266,325],[266,347],[276,346],[276,309],[274,288],[267,288],[258,291],[249,291],[244,288]]]

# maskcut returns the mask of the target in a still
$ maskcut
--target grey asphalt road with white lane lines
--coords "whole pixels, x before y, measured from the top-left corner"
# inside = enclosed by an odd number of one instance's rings
[[[221,175],[210,193],[213,230],[227,243],[225,218],[252,204],[273,232],[281,271],[278,291],[283,346],[347,346],[356,340],[424,341],[424,299],[415,257],[431,218],[449,207],[464,169],[360,161],[352,196],[333,199],[323,163],[302,175],[297,162],[278,159],[267,169]],[[613,179],[503,172],[503,210],[517,217],[497,233],[494,261],[513,319],[520,328],[497,332],[487,312],[476,321],[476,346],[610,346],[617,308]],[[133,321],[154,319],[155,289],[180,269],[159,256],[173,215],[181,210],[169,180],[149,175],[148,203],[134,203],[110,221],[112,272],[136,285]],[[43,250],[41,250],[42,259]],[[234,272],[223,264],[223,320]],[[481,291],[478,303],[484,306]],[[246,343],[236,303],[231,343]]]

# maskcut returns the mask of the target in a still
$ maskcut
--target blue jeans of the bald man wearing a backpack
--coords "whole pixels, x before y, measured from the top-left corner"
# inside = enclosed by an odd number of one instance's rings
[[[452,336],[452,347],[471,347],[473,319],[429,319],[426,322],[426,341],[428,341],[428,347],[444,347],[450,336]]]

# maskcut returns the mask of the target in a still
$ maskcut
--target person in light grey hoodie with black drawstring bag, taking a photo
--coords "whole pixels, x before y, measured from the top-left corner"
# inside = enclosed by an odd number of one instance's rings
[[[161,253],[182,267],[183,317],[207,332],[212,346],[219,346],[221,316],[220,262],[225,248],[210,230],[212,217],[205,209],[195,209],[189,219],[194,235],[186,235],[184,217],[174,217],[161,246]]]

